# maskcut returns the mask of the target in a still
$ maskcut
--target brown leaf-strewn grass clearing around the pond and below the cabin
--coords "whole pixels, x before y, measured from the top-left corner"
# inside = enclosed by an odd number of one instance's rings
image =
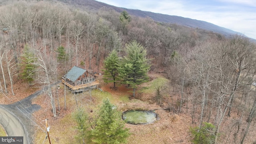
[[[101,77],[99,77],[101,79]],[[38,118],[44,120],[47,118],[48,124],[50,125],[50,138],[52,143],[55,144],[74,144],[74,135],[76,134],[76,123],[72,119],[72,112],[76,110],[76,100],[78,106],[86,108],[87,112],[90,113],[92,110],[94,113],[98,108],[98,105],[102,102],[103,98],[108,97],[110,101],[118,107],[118,110],[124,111],[127,109],[148,109],[153,110],[161,108],[156,104],[148,102],[154,96],[154,89],[159,84],[165,84],[168,82],[167,79],[161,76],[152,76],[152,81],[145,83],[140,86],[137,90],[137,94],[140,99],[145,101],[132,98],[132,89],[126,88],[126,86],[118,86],[117,90],[110,88],[112,84],[103,84],[101,81],[100,90],[92,90],[92,100],[90,100],[89,92],[80,94],[72,94],[70,91],[66,91],[66,104],[67,110],[64,110],[64,85],[61,84],[60,90],[58,90],[60,111],[57,110],[58,116],[53,118],[51,112],[51,106],[49,99],[44,96],[38,96],[33,103],[40,104],[42,108],[34,114]],[[57,99],[56,109],[58,109]],[[128,144],[172,144],[176,142],[189,143],[188,129],[190,126],[190,118],[185,114],[170,114],[165,110],[155,111],[160,119],[147,125],[132,125],[126,124],[127,128],[130,128],[131,136],[128,138]],[[42,128],[45,128],[45,122],[39,123]],[[40,129],[36,128],[36,134],[34,143],[42,143],[45,140],[46,134]],[[48,140],[47,140],[48,141]]]

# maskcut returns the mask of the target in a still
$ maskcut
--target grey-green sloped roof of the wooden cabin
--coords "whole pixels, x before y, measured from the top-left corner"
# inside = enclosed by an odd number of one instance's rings
[[[65,74],[64,78],[68,78],[72,82],[75,82],[79,78],[79,76],[84,74],[84,72],[86,72],[86,70],[74,66],[73,68],[71,68],[70,71],[68,71],[67,74]]]

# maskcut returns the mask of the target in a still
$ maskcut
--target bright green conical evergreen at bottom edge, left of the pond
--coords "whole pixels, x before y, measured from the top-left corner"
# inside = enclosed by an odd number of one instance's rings
[[[120,144],[125,143],[129,136],[129,130],[124,128],[121,112],[110,103],[109,99],[103,100],[98,111],[96,126],[92,129],[92,142],[96,144]]]

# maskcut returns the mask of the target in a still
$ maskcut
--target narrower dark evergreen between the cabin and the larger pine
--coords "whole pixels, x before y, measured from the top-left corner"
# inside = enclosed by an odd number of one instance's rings
[[[119,80],[118,78],[118,56],[117,52],[113,50],[109,56],[104,60],[104,68],[102,70],[104,72],[104,82],[113,82],[114,89],[116,88],[116,82]]]

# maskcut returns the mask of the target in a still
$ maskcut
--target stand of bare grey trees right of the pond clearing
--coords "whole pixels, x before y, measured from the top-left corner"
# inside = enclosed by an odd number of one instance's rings
[[[247,38],[234,36],[202,42],[187,55],[172,57],[170,77],[178,83],[174,86],[180,92],[178,112],[185,112],[183,105],[189,102],[199,133],[204,122],[212,123],[214,128],[207,132],[213,138],[210,143],[243,144],[255,122],[255,48]]]

